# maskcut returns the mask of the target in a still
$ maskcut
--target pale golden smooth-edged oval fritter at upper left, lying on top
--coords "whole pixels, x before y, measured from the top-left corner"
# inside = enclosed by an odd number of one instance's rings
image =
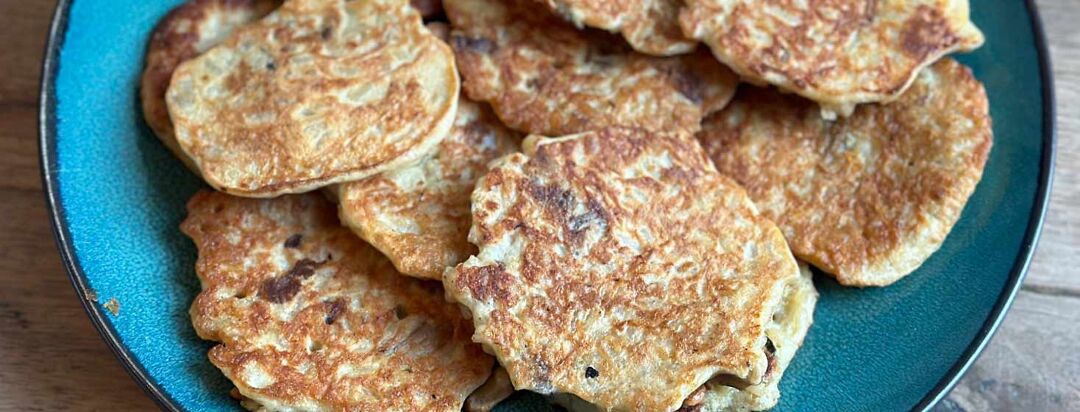
[[[181,64],[165,99],[211,186],[270,197],[416,163],[457,95],[453,51],[406,0],[288,0]]]

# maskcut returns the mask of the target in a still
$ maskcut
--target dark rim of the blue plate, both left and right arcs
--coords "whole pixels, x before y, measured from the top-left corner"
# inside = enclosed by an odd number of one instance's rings
[[[57,0],[56,10],[53,12],[52,24],[49,29],[49,40],[45,45],[44,59],[41,68],[41,95],[38,114],[38,149],[41,164],[41,182],[44,189],[45,205],[52,217],[53,236],[56,240],[56,248],[59,250],[60,258],[67,269],[68,278],[76,290],[79,302],[90,317],[91,323],[97,333],[102,335],[106,345],[112,354],[120,360],[120,364],[135,380],[143,391],[162,410],[184,411],[175,399],[168,396],[161,386],[154,382],[146,368],[135,359],[131,351],[121,344],[120,336],[106,321],[106,315],[96,302],[91,301],[93,291],[87,287],[86,276],[82,271],[82,266],[75,254],[75,245],[71,243],[71,235],[67,227],[67,217],[64,205],[60,202],[59,190],[56,181],[56,76],[58,74],[59,52],[64,45],[67,35],[68,12],[71,2],[75,0]],[[1021,284],[1027,275],[1027,268],[1035,254],[1039,236],[1042,232],[1042,223],[1047,215],[1047,207],[1050,203],[1050,189],[1054,174],[1054,158],[1056,156],[1057,128],[1056,128],[1056,103],[1054,98],[1054,76],[1050,62],[1050,52],[1047,49],[1047,37],[1042,28],[1042,18],[1039,16],[1035,0],[1025,0],[1028,16],[1031,19],[1031,28],[1035,31],[1035,42],[1039,55],[1039,77],[1042,80],[1042,159],[1039,171],[1038,188],[1036,189],[1035,203],[1031,208],[1031,216],[1028,220],[1027,230],[1022,242],[1021,253],[1013,263],[1012,271],[1005,282],[1005,288],[998,296],[990,315],[982,329],[968,345],[953,368],[946,372],[945,376],[939,381],[922,400],[912,410],[929,411],[939,401],[948,395],[949,390],[956,386],[957,382],[968,371],[968,368],[978,359],[990,337],[997,332],[998,327],[1005,317],[1009,307],[1020,292]]]

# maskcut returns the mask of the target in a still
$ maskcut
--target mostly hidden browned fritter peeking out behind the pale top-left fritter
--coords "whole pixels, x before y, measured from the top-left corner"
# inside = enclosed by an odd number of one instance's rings
[[[188,0],[165,14],[150,34],[139,88],[143,117],[165,147],[191,170],[198,172],[176,144],[173,122],[165,108],[165,90],[173,70],[217,45],[238,27],[267,15],[280,3],[279,0]]]

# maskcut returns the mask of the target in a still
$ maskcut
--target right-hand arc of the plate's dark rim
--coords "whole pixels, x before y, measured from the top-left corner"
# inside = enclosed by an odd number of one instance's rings
[[[937,402],[945,399],[953,390],[963,374],[968,372],[983,354],[986,344],[994,337],[1001,321],[1005,318],[1005,313],[1012,306],[1016,293],[1020,292],[1021,284],[1027,276],[1027,268],[1031,264],[1035,255],[1035,248],[1039,243],[1039,236],[1042,234],[1042,222],[1047,216],[1047,208],[1050,204],[1050,189],[1054,180],[1054,158],[1056,157],[1057,145],[1057,104],[1054,97],[1054,70],[1050,61],[1050,51],[1047,49],[1047,34],[1042,28],[1042,17],[1039,16],[1039,8],[1035,0],[1026,0],[1027,14],[1031,19],[1031,30],[1034,31],[1036,50],[1039,55],[1039,78],[1042,81],[1042,160],[1039,170],[1039,187],[1035,192],[1035,203],[1031,205],[1031,218],[1028,221],[1027,230],[1024,234],[1024,241],[1021,243],[1021,253],[1013,263],[1012,273],[1005,281],[1005,288],[998,296],[998,302],[990,309],[990,315],[986,322],[975,334],[975,337],[968,344],[960,358],[957,359],[953,368],[937,382],[919,403],[912,408],[913,411],[930,411]]]

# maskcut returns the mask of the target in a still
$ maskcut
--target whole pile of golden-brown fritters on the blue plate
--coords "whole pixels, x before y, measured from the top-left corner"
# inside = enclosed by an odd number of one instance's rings
[[[772,408],[796,257],[889,284],[974,191],[967,8],[189,0],[141,96],[221,191],[192,322],[252,410]]]

